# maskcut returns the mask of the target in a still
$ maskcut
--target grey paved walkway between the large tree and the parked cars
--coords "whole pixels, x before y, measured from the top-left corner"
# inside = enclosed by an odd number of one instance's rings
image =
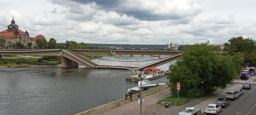
[[[190,101],[189,103],[179,106],[176,109],[170,110],[162,115],[177,115],[180,111],[184,110],[186,107],[196,107],[196,108],[201,109],[201,112],[204,113],[205,107],[208,104],[211,104],[211,103],[215,104],[215,101],[218,98],[225,97],[225,92],[227,90],[230,90],[230,89],[233,90],[233,89],[239,88],[239,87],[240,87],[240,89],[242,88],[241,83],[233,83],[232,85],[227,85],[227,88],[225,90],[218,89],[217,91],[210,93],[206,97],[202,97],[202,98],[195,99],[194,101]]]

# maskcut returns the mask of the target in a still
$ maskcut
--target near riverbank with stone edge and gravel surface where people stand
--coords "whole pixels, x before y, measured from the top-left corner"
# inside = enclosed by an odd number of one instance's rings
[[[147,115],[160,115],[167,111],[177,108],[178,106],[172,106],[169,108],[165,108],[163,104],[156,104],[158,99],[170,94],[170,89],[167,85],[162,85],[159,87],[155,87],[150,89],[151,91],[142,93],[142,98],[144,99],[144,103],[142,103],[142,113]],[[112,115],[112,114],[140,114],[140,104],[138,104],[138,97],[135,94],[133,96],[134,101],[129,101],[129,103],[124,103],[124,98],[113,101],[108,104],[101,105],[99,107],[95,107],[75,115],[89,115],[89,114],[97,114],[97,115]],[[113,108],[113,104],[119,102],[121,106],[117,108]]]

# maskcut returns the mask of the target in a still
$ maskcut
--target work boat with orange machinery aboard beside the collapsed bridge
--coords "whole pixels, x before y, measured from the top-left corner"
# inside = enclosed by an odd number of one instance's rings
[[[140,68],[134,68],[130,76],[126,76],[126,81],[140,81],[143,77],[147,80],[152,80],[156,78],[161,78],[165,73],[161,69],[145,68],[143,72],[140,71]]]

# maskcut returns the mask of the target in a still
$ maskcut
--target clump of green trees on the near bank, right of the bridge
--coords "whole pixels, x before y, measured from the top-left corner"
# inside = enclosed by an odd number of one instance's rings
[[[253,39],[232,37],[225,43],[226,53],[222,54],[220,49],[208,44],[186,45],[181,58],[169,66],[167,78],[172,94],[177,95],[178,82],[181,95],[202,97],[232,84],[246,65],[256,66],[256,42]]]

